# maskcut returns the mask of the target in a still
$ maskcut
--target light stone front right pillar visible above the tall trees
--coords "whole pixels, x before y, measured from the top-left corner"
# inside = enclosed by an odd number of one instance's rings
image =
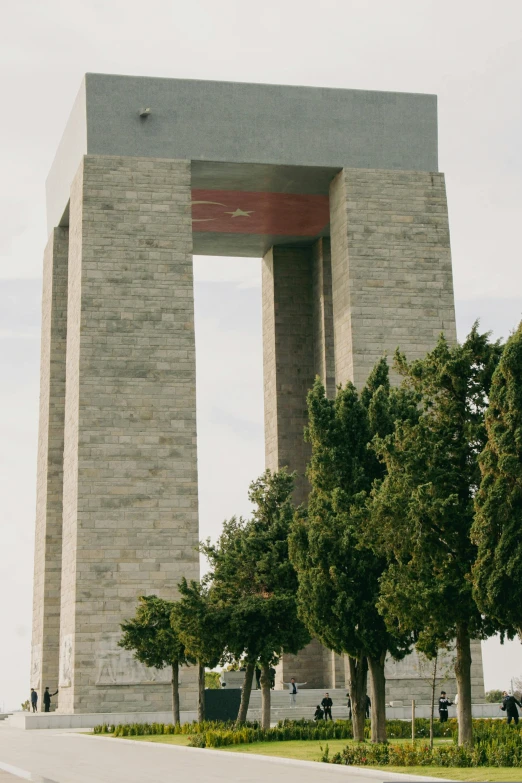
[[[456,340],[444,175],[344,169],[330,187],[336,383]]]

